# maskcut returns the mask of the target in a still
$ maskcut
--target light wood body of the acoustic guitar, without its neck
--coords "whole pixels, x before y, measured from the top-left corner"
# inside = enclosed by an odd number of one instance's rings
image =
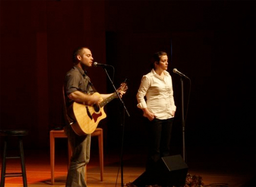
[[[99,95],[98,92],[93,95]],[[103,99],[102,99],[103,100]],[[75,123],[71,125],[72,129],[78,135],[91,134],[97,128],[99,122],[106,118],[104,107],[99,105],[86,106],[80,103],[73,103],[73,113],[75,117]]]

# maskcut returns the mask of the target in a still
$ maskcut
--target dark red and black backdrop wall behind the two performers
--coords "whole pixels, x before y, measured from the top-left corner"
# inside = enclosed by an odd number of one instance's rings
[[[61,87],[79,45],[115,67],[115,85],[129,78],[124,97],[125,144],[144,146],[136,92],[148,59],[168,53],[178,106],[172,145],[181,151],[181,87],[173,68],[191,79],[188,147],[255,144],[254,1],[1,1],[1,129],[29,130],[28,148],[48,148],[61,123]],[[172,49],[171,49],[172,45]],[[171,61],[171,60],[169,60]],[[112,74],[111,74],[112,75]],[[90,77],[112,92],[101,68]],[[185,103],[188,81],[184,81]],[[185,108],[186,110],[186,108]],[[106,107],[105,145],[120,138],[119,105]],[[178,153],[179,153],[178,151]],[[252,153],[252,152],[251,152]]]

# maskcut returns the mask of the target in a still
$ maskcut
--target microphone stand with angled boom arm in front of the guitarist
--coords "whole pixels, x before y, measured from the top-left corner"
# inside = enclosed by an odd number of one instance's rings
[[[128,110],[126,109],[126,107],[125,107],[125,105],[124,105],[124,102],[123,102],[123,100],[121,99],[121,97],[119,96],[119,94],[118,94],[118,92],[117,92],[117,90],[116,90],[116,87],[115,87],[115,85],[114,85],[114,83],[113,83],[113,81],[111,80],[111,78],[110,78],[110,76],[109,76],[109,74],[108,74],[108,71],[106,71],[106,68],[105,67],[103,67],[104,68],[104,70],[105,70],[105,72],[106,72],[106,75],[108,75],[108,78],[109,78],[109,80],[110,80],[110,82],[111,82],[111,84],[112,84],[112,86],[113,86],[113,88],[115,89],[115,92],[117,93],[117,96],[118,96],[118,98],[119,98],[119,100],[121,101],[121,103],[122,103],[122,105],[123,105],[123,110],[125,110],[126,111],[126,113],[127,113],[127,115],[130,117],[130,114],[129,114],[129,112],[128,112]],[[121,141],[121,154],[120,154],[120,165],[121,165],[121,186],[123,187],[123,138],[124,138],[124,112],[123,112],[123,123],[121,124],[121,127],[122,127],[122,141]]]

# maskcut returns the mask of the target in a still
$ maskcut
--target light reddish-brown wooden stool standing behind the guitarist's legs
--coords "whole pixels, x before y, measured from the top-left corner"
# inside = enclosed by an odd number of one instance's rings
[[[96,130],[91,134],[91,136],[98,136],[99,144],[99,165],[100,165],[100,181],[103,181],[103,130],[101,128],[96,128]],[[51,183],[54,184],[54,160],[55,160],[55,138],[67,138],[64,130],[51,130],[50,131],[50,157],[51,157]],[[72,155],[71,146],[68,144],[69,152],[69,165],[70,158]],[[87,179],[87,170],[86,170]]]

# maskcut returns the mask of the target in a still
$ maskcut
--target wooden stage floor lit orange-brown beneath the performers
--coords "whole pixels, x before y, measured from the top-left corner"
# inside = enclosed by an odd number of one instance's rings
[[[255,156],[247,153],[236,155],[237,151],[199,152],[187,151],[188,173],[201,176],[204,186],[255,186]],[[89,187],[121,186],[120,151],[104,150],[104,179],[100,181],[99,158],[97,149],[91,151],[91,161],[87,167]],[[123,183],[134,181],[144,172],[146,154],[140,148],[124,148]],[[2,160],[2,157],[1,157]],[[51,184],[50,151],[25,149],[25,162],[28,186],[63,187],[67,176],[67,150],[56,149],[55,184]],[[8,160],[7,172],[20,171],[18,160]],[[22,177],[6,178],[5,187],[23,186]]]

